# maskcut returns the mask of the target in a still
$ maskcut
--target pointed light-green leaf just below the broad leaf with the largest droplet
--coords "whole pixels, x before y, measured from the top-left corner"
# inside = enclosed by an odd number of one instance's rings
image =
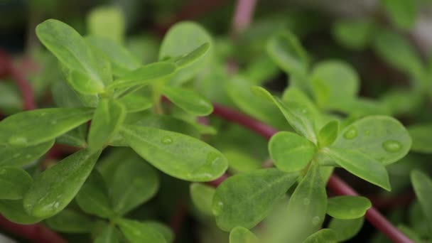
[[[323,152],[333,158],[339,166],[350,173],[357,175],[363,180],[378,185],[385,190],[392,190],[389,181],[389,174],[386,168],[379,161],[369,157],[367,153],[348,148],[324,148]]]

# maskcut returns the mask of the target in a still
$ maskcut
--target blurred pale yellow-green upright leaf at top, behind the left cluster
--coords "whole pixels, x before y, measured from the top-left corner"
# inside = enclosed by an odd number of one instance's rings
[[[95,36],[121,43],[126,31],[126,18],[119,6],[102,6],[87,16],[88,31]]]

